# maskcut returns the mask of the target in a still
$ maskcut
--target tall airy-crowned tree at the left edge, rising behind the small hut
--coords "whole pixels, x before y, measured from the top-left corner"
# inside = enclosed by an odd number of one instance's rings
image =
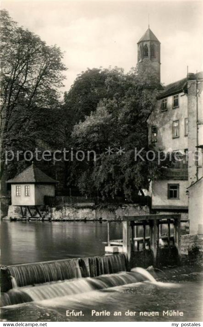
[[[31,149],[36,135],[46,139],[51,123],[58,121],[59,89],[63,86],[66,67],[56,45],[48,46],[39,36],[19,27],[6,10],[1,11],[0,35],[3,173],[6,150],[10,147]],[[43,129],[39,132],[40,111],[43,111]]]

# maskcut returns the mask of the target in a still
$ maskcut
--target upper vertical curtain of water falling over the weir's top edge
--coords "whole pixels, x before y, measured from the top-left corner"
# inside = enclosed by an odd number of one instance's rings
[[[39,262],[8,267],[18,287],[126,270],[123,253],[101,257]],[[14,286],[13,286],[14,287]]]

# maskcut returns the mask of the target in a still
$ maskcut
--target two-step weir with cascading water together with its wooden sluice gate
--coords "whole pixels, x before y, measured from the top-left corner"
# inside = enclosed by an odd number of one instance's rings
[[[160,232],[162,225],[167,227],[166,236]],[[138,227],[143,229],[142,237],[136,235]],[[149,272],[134,267],[178,263],[180,215],[125,216],[122,240],[110,241],[108,224],[105,250],[114,252],[115,247],[121,253],[2,266],[1,305],[70,296],[146,279],[155,283]]]

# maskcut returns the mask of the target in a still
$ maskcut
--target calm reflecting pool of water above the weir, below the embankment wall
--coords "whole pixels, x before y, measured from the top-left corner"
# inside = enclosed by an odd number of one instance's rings
[[[122,224],[111,224],[111,238],[121,238]],[[1,264],[103,255],[106,241],[106,222],[2,221]]]

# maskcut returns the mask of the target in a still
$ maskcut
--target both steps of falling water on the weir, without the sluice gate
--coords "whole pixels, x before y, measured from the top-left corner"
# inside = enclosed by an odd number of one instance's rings
[[[9,266],[8,270],[13,288],[3,293],[2,306],[74,296],[146,280],[157,284],[143,268],[126,272],[123,253]]]

